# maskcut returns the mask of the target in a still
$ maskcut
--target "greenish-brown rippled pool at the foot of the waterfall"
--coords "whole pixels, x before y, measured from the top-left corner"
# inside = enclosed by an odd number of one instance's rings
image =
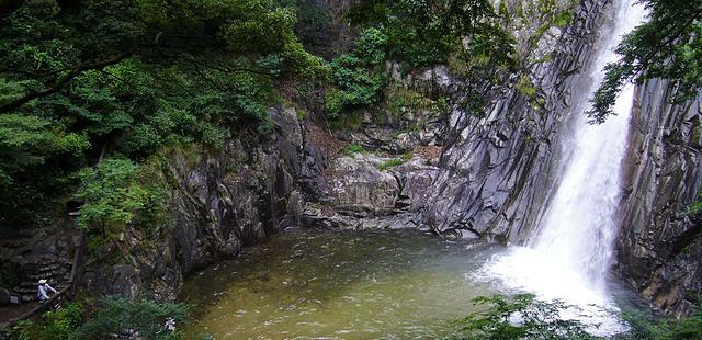
[[[190,277],[188,335],[217,339],[432,339],[480,295],[517,293],[484,275],[514,248],[416,230],[288,229]],[[496,263],[499,264],[499,263]],[[609,281],[620,304],[635,295]],[[633,306],[633,305],[631,305]]]

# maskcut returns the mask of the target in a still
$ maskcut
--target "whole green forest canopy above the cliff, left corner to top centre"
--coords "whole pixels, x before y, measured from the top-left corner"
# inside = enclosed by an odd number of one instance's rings
[[[82,226],[132,223],[155,202],[139,183],[150,156],[267,135],[284,82],[321,82],[333,118],[383,99],[389,60],[513,66],[511,36],[487,0],[359,2],[346,18],[355,43],[341,55],[325,35],[332,13],[314,0],[4,0],[0,9],[0,223],[9,225],[35,223],[43,205],[69,197],[91,213]],[[97,185],[103,177],[114,185]],[[107,209],[105,197],[124,207]]]

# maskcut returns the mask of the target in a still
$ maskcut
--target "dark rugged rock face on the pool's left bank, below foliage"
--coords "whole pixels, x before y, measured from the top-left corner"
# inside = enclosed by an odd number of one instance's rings
[[[103,294],[173,299],[183,276],[299,222],[316,170],[295,110],[272,109],[274,132],[233,138],[216,154],[173,150],[163,169],[170,218],[156,235],[129,229],[95,251],[84,284]],[[135,246],[128,248],[129,246]]]

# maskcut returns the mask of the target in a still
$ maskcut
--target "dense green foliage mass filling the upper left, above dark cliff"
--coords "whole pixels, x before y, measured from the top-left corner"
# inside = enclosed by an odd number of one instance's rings
[[[216,148],[231,131],[267,132],[276,79],[326,70],[297,39],[295,11],[273,0],[3,9],[0,216],[10,224],[34,222],[102,158],[138,162],[165,145]]]

